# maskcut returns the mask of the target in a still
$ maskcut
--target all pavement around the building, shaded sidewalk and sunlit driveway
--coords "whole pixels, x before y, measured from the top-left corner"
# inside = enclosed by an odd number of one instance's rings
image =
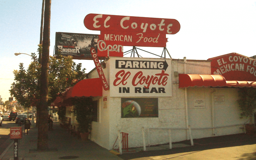
[[[175,142],[172,149],[169,144],[150,146],[147,151],[143,148],[130,148],[135,152],[124,152],[118,155],[117,151],[109,151],[91,140],[77,139],[58,122],[53,124],[53,131],[48,132],[49,150],[36,151],[37,128],[31,127],[28,134],[19,140],[18,156],[24,160],[48,159],[92,159],[92,160],[197,160],[197,159],[225,159],[225,160],[254,160],[256,159],[256,137],[249,134],[234,134],[227,136],[194,139],[194,146],[190,140]],[[0,160],[9,160],[14,157],[13,141],[0,155]]]

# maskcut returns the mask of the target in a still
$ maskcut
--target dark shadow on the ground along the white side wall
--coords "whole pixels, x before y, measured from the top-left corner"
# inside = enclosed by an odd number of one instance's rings
[[[218,137],[194,139],[193,141],[194,141],[194,146],[178,147],[178,148],[163,149],[163,150],[149,150],[149,151],[142,150],[142,151],[133,152],[133,153],[124,152],[122,155],[118,155],[118,156],[123,158],[124,160],[129,160],[134,158],[171,155],[176,153],[186,153],[186,152],[195,153],[195,152],[199,152],[207,149],[256,144],[256,137],[255,135],[248,135],[248,134],[241,133],[241,134],[225,135],[225,136],[218,136]],[[175,142],[172,144],[180,144],[180,143],[191,145],[190,140],[184,140],[184,141]],[[244,154],[242,158],[246,160],[256,159],[256,152]]]

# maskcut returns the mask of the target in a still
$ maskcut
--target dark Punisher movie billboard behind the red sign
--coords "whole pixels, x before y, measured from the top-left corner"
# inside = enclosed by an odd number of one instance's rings
[[[97,50],[99,35],[56,32],[55,55],[73,56],[77,60],[92,60],[91,47]]]

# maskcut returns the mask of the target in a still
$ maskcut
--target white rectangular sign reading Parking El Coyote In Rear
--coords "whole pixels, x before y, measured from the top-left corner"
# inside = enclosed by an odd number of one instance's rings
[[[171,97],[171,59],[113,57],[110,97]]]

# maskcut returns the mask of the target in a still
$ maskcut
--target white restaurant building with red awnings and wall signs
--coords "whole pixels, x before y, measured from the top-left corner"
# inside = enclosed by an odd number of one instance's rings
[[[246,66],[237,69],[235,56],[237,63],[240,57],[244,58],[237,53],[209,60],[109,57],[102,65],[109,90],[103,89],[94,68],[88,79],[69,89],[64,99],[92,96],[98,108],[89,138],[109,150],[118,131],[129,134],[129,148],[142,147],[143,127],[146,146],[169,143],[168,129],[172,142],[188,140],[189,126],[194,139],[243,133],[248,119],[240,119],[237,87],[255,84],[245,83],[236,76],[227,81],[224,76],[237,75],[238,71],[239,75],[249,72],[252,78],[255,76]],[[245,58],[250,68],[256,64],[256,60]],[[240,58],[240,64],[246,59]],[[230,65],[224,70],[222,66],[213,66],[213,62]],[[213,75],[216,69],[222,75]],[[72,106],[67,106],[66,116],[74,123],[71,111]]]

